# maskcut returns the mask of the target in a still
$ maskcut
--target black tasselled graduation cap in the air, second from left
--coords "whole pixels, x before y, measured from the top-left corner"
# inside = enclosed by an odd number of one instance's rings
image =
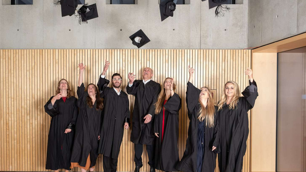
[[[82,22],[87,23],[87,20],[98,17],[97,5],[96,4],[84,5],[78,10],[78,14],[80,17],[79,18],[80,24]]]

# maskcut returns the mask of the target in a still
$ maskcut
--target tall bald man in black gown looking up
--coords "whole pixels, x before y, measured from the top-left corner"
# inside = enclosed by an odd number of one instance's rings
[[[135,80],[134,73],[129,73],[129,85],[126,86],[127,94],[135,95],[135,105],[132,118],[131,141],[134,143],[136,164],[134,172],[139,172],[142,167],[143,145],[149,157],[148,164],[150,172],[155,172],[154,148],[155,135],[153,132],[153,119],[155,111],[155,103],[161,92],[161,85],[153,80],[153,70],[144,68],[142,72],[143,80]]]

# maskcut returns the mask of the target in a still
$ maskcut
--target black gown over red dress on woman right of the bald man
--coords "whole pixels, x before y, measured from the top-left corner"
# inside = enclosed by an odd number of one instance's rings
[[[163,131],[163,108],[165,108],[164,137]],[[177,140],[179,138],[179,111],[181,98],[174,93],[167,100],[159,114],[155,114],[154,132],[159,133],[155,145],[155,168],[163,171],[178,171],[175,166],[180,161]]]

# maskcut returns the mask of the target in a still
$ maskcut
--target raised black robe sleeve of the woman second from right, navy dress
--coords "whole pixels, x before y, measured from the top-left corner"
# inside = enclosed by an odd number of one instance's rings
[[[194,108],[199,102],[201,90],[194,87],[191,82],[187,83],[187,92],[186,92],[186,103],[188,109],[188,118],[191,119],[191,115],[193,113]]]

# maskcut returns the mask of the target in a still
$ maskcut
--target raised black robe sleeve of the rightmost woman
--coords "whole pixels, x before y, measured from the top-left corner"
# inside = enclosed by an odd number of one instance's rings
[[[242,107],[248,111],[254,107],[255,100],[258,97],[257,84],[255,80],[253,82],[249,81],[249,86],[247,86],[242,92],[244,96],[242,99]]]

